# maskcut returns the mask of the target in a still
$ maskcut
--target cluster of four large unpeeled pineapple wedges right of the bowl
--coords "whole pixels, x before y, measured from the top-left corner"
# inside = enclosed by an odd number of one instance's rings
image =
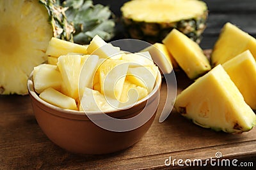
[[[255,38],[225,24],[212,50],[211,64],[200,46],[176,29],[163,44],[195,80],[176,98],[174,107],[181,115],[214,131],[239,133],[256,125]]]

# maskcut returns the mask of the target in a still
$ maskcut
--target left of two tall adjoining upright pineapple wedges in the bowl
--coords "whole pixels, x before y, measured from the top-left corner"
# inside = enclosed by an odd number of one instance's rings
[[[81,71],[81,55],[61,55],[58,58],[57,66],[60,70],[65,89],[63,94],[77,99],[78,81]]]

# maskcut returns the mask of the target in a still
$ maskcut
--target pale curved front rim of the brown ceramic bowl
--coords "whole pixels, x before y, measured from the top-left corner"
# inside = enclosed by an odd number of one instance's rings
[[[156,82],[154,85],[154,89],[150,92],[150,94],[148,94],[146,97],[144,97],[143,99],[141,99],[140,101],[137,101],[136,104],[134,104],[134,106],[127,106],[125,108],[122,108],[121,110],[109,110],[109,111],[78,111],[78,110],[68,110],[65,108],[60,108],[58,106],[54,106],[53,104],[47,103],[46,101],[44,101],[43,99],[41,99],[38,94],[35,92],[35,88],[34,88],[34,84],[33,84],[33,72],[31,72],[31,74],[29,75],[28,78],[28,83],[27,83],[27,87],[28,87],[28,92],[29,92],[29,96],[33,97],[33,99],[35,99],[36,101],[38,101],[39,103],[43,104],[45,107],[50,108],[52,110],[58,111],[59,113],[66,113],[68,115],[77,115],[77,116],[81,116],[81,115],[87,115],[87,114],[112,114],[112,113],[116,113],[118,111],[122,111],[122,110],[129,110],[131,108],[134,108],[136,106],[138,106],[141,103],[144,103],[145,101],[148,101],[148,99],[150,99],[152,96],[154,96],[154,94],[156,94],[156,92],[161,89],[161,83],[162,83],[162,78],[161,78],[161,73],[159,71],[159,69],[157,70],[157,78],[156,78]],[[54,114],[54,113],[51,113]],[[56,114],[54,114],[56,115]],[[59,115],[59,114],[58,114]]]

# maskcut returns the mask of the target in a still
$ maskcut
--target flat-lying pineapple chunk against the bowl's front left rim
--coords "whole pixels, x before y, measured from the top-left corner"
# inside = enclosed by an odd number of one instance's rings
[[[65,96],[51,87],[45,89],[39,97],[54,106],[68,110],[77,110],[76,101],[71,97]]]

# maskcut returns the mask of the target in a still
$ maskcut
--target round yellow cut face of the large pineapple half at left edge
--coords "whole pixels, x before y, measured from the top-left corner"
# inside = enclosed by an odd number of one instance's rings
[[[0,0],[0,94],[28,94],[28,76],[46,60],[52,27],[38,1]]]

